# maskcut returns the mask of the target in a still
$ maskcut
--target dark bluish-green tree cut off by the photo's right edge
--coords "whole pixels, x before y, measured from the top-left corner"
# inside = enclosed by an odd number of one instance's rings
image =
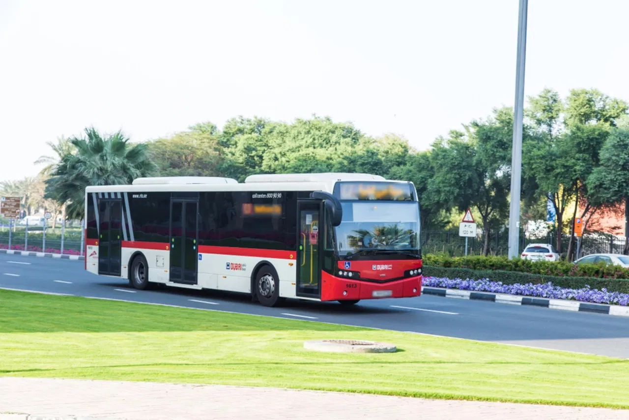
[[[601,165],[587,183],[601,203],[625,203],[625,254],[629,254],[629,129],[615,128],[601,148]]]

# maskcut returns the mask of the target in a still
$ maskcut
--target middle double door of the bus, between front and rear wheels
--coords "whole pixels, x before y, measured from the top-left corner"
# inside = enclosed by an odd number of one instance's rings
[[[170,281],[197,284],[198,202],[170,200]]]

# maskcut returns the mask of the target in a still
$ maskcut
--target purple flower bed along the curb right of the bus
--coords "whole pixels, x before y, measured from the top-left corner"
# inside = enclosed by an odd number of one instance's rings
[[[521,285],[503,285],[502,281],[483,280],[462,280],[460,278],[437,278],[425,277],[423,286],[445,287],[460,290],[473,290],[474,292],[506,293],[508,295],[523,295],[533,297],[545,297],[550,299],[567,299],[589,302],[592,304],[611,304],[629,306],[629,293],[608,292],[607,289],[591,289],[588,285],[581,289],[569,289],[554,286],[552,283],[534,285],[528,283]]]

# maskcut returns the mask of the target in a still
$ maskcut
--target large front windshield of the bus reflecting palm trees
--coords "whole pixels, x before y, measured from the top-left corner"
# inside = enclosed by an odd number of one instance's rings
[[[342,258],[362,251],[419,251],[417,202],[344,201],[343,219],[335,228]]]

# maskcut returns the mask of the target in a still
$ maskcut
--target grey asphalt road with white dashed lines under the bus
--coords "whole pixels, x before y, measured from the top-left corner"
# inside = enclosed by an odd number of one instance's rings
[[[363,300],[353,307],[343,307],[336,302],[291,300],[281,307],[268,308],[237,293],[170,287],[135,290],[126,280],[87,273],[83,264],[83,261],[0,254],[0,287],[272,315],[629,358],[629,319],[626,317],[430,295]]]

